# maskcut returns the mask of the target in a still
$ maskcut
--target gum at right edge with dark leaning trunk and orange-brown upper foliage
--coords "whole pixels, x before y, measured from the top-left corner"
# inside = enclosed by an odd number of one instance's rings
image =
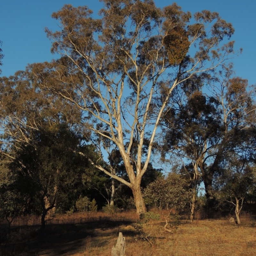
[[[243,153],[248,158],[254,158],[256,91],[255,85],[249,86],[247,79],[234,76],[232,65],[222,66],[222,70],[215,74],[207,86],[218,102],[220,113],[219,136],[200,166],[206,196],[209,197],[214,174],[221,168],[226,154]]]

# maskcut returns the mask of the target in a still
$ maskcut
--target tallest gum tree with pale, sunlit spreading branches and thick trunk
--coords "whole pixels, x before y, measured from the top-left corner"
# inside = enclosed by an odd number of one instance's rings
[[[129,181],[94,164],[132,189],[141,213],[141,179],[173,89],[227,60],[234,42],[226,39],[234,29],[216,12],[198,12],[192,20],[177,4],[159,9],[152,0],[102,2],[100,19],[86,6],[54,12],[60,30],[46,33],[61,58],[52,68],[31,71],[80,109],[91,138],[108,139],[99,141],[102,152],[119,150]]]

